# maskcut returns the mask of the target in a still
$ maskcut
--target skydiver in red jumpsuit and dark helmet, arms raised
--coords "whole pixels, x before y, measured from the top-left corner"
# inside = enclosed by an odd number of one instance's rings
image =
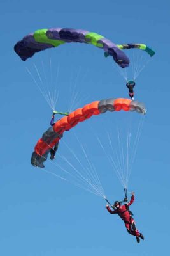
[[[106,204],[106,209],[110,214],[118,214],[120,218],[125,223],[125,227],[127,228],[127,232],[133,236],[136,236],[137,243],[140,242],[140,238],[144,240],[143,234],[139,233],[139,231],[136,229],[136,224],[134,221],[134,218],[132,218],[132,212],[129,211],[129,206],[134,202],[134,192],[132,192],[131,201],[127,202],[127,204],[121,205],[122,202],[115,201],[113,205],[114,211],[110,209],[109,205]]]

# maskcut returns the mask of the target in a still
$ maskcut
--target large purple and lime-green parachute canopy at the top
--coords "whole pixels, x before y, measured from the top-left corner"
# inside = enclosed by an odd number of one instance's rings
[[[23,61],[26,61],[27,58],[31,58],[36,52],[70,42],[93,44],[103,49],[108,56],[112,56],[120,67],[125,68],[129,66],[129,58],[120,49],[121,47],[118,47],[102,35],[82,29],[39,29],[17,42],[14,50]]]

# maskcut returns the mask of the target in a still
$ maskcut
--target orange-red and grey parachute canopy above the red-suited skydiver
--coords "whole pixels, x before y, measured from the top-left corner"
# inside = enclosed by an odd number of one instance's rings
[[[68,116],[64,116],[53,127],[44,132],[41,139],[38,140],[31,157],[31,164],[43,168],[43,162],[46,161],[48,153],[53,146],[62,138],[64,131],[83,122],[92,115],[99,115],[106,111],[136,111],[141,114],[146,113],[144,104],[131,99],[104,99],[85,105],[83,108],[76,109]]]

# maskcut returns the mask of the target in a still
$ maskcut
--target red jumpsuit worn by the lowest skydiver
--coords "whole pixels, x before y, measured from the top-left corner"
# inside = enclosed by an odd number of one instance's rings
[[[132,218],[132,215],[129,213],[128,207],[134,202],[134,196],[131,197],[131,201],[127,204],[120,205],[120,207],[116,210],[111,210],[109,206],[106,207],[108,212],[111,214],[118,214],[120,218],[125,223],[125,227],[127,228],[127,232],[133,236],[139,236],[139,231],[136,229],[136,225],[134,222],[134,219]]]

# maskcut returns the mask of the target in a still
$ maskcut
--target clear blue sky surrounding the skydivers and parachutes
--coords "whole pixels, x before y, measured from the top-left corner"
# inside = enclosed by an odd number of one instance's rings
[[[168,252],[169,7],[166,0],[158,3],[145,0],[1,1],[1,255],[157,256]],[[49,127],[52,111],[25,67],[31,69],[35,63],[41,68],[42,58],[48,66],[49,56],[43,52],[24,63],[13,46],[36,29],[52,27],[86,29],[117,44],[141,42],[155,49],[155,56],[141,72],[135,88],[136,99],[145,102],[148,109],[129,180],[129,191],[136,192],[131,209],[137,227],[145,236],[140,244],[127,234],[118,216],[106,212],[103,198],[30,164],[34,145]],[[52,67],[59,70],[57,110],[69,109],[76,92],[81,101],[76,107],[94,100],[127,97],[124,78],[111,58],[103,57],[101,49],[69,44],[55,50],[49,54],[53,58]],[[72,92],[68,88],[72,88]],[[111,202],[122,199],[123,188],[96,135],[107,147],[106,134],[113,132],[117,147],[114,135],[117,122],[121,127],[131,119],[125,114],[128,113],[94,116],[64,134],[60,141],[59,154],[74,163],[64,143],[81,159],[76,136],[80,139]],[[139,116],[131,114],[131,122],[136,124]],[[59,155],[55,161],[62,164]],[[85,159],[81,161],[87,164]],[[50,161],[46,161],[45,166],[46,170],[62,176],[61,170]]]

